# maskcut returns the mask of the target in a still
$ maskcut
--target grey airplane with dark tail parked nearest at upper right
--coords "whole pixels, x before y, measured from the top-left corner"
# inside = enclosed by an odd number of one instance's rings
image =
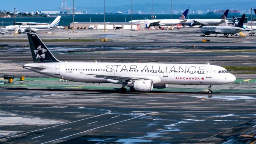
[[[200,30],[205,35],[210,34],[224,34],[226,37],[234,35],[239,32],[247,31],[243,28],[245,14],[243,14],[240,22],[236,26],[203,26]]]

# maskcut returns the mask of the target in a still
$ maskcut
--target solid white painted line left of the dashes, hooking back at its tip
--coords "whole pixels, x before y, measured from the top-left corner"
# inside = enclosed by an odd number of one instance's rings
[[[97,108],[91,108],[91,109],[104,110],[104,109],[97,109]],[[105,115],[105,114],[111,113],[110,110],[106,110],[106,111],[108,111],[108,112],[106,112],[106,113],[104,113],[104,114],[97,115],[97,116],[93,116],[93,117],[90,117],[90,118],[95,118],[95,117],[98,117],[98,116],[103,116],[103,115]],[[39,130],[45,130],[45,129],[48,129],[48,128],[54,128],[54,127],[62,126],[62,125],[65,125],[65,124],[71,124],[71,123],[74,123],[74,122],[79,122],[79,121],[87,120],[87,119],[90,119],[90,118],[84,118],[84,119],[76,120],[76,121],[73,121],[73,122],[67,122],[67,123],[64,123],[64,124],[58,124],[58,125],[55,125],[55,126],[50,126],[50,127],[47,127],[47,128],[42,128],[42,129],[39,129]],[[31,131],[31,132],[37,132],[37,131],[39,131],[39,130],[33,130],[33,131]],[[23,134],[28,134],[28,133],[31,133],[31,132],[25,132],[25,133],[23,133]],[[17,135],[15,135],[15,136],[21,136],[21,135],[23,135],[23,134],[17,134]],[[15,136],[9,136],[9,137],[7,137],[7,138],[1,138],[0,140],[4,140],[4,139],[8,139],[8,138],[13,138],[13,137],[15,137]]]

